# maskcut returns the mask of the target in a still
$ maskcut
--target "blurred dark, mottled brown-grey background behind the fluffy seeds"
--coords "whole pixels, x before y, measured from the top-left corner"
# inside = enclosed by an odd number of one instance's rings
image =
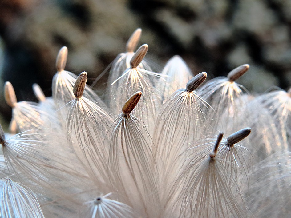
[[[51,95],[55,58],[68,47],[66,70],[92,83],[125,51],[136,28],[139,45],[160,69],[180,55],[194,74],[227,75],[248,63],[238,82],[250,92],[291,85],[291,0],[1,0],[0,111],[10,121],[3,84],[18,101],[36,101],[32,84]],[[102,94],[108,73],[95,88]],[[100,91],[101,90],[101,91]]]

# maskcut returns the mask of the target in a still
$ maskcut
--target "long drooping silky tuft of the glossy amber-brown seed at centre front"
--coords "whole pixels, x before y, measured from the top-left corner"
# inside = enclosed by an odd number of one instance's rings
[[[131,102],[136,105],[140,96],[141,93],[135,93],[125,105],[132,108]],[[159,174],[149,133],[137,118],[124,113],[116,118],[109,132],[108,171],[113,176],[110,178],[112,186],[118,188],[121,199],[127,199],[123,202],[133,207],[141,216],[158,215]]]

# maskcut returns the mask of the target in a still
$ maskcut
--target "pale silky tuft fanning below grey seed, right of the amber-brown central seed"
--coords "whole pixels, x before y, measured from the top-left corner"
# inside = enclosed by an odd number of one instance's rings
[[[168,179],[175,180],[184,164],[185,157],[179,155],[200,138],[201,133],[209,131],[205,115],[209,110],[210,105],[198,93],[187,89],[177,90],[164,102],[156,120],[153,139],[157,147],[156,158],[161,157],[158,164],[166,168],[166,183]]]

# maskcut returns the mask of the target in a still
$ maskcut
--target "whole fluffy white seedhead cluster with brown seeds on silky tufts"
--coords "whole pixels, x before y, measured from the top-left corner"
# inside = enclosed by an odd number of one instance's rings
[[[152,72],[140,36],[103,98],[65,70],[66,47],[52,97],[34,84],[39,102],[18,102],[5,83],[0,217],[290,217],[291,92],[249,94],[247,64],[207,82],[179,56]]]

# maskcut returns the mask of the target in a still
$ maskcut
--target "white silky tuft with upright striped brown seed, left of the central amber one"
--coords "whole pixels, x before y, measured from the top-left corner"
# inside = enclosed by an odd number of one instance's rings
[[[68,104],[67,139],[84,168],[102,183],[107,180],[108,145],[103,147],[103,143],[108,143],[104,136],[111,125],[111,116],[100,105],[82,96],[87,74],[81,73],[78,78],[74,86],[77,87],[76,99]]]

